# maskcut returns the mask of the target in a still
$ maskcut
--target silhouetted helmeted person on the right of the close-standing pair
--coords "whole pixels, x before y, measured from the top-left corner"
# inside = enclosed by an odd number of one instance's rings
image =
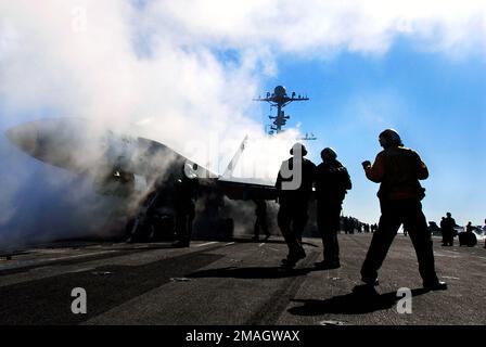
[[[340,264],[340,230],[341,208],[346,190],[351,189],[351,181],[346,168],[336,158],[333,149],[321,152],[322,163],[316,168],[317,226],[322,235],[324,259],[316,262],[321,269],[336,269]]]

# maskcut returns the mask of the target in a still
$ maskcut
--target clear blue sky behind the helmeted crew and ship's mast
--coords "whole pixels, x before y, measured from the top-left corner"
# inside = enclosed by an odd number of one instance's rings
[[[333,146],[348,167],[355,189],[345,214],[372,221],[379,216],[378,185],[364,179],[360,163],[381,150],[378,134],[399,131],[407,146],[427,164],[431,177],[424,210],[430,220],[451,211],[463,224],[486,218],[486,62],[484,56],[452,59],[419,52],[407,40],[380,56],[343,52],[331,61],[281,56],[278,74],[266,90],[282,83],[306,93],[309,102],[287,106],[289,126],[314,132],[308,143],[319,162],[323,146]],[[269,107],[263,105],[261,114]],[[264,119],[263,119],[264,120]]]

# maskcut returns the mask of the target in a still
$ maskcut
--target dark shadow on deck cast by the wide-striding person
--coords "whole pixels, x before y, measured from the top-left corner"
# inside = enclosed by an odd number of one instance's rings
[[[427,293],[426,290],[412,290],[412,297]],[[293,303],[302,303],[303,306],[292,307],[289,313],[294,316],[322,316],[327,313],[363,314],[378,310],[386,310],[395,306],[401,297],[397,292],[385,294],[349,293],[334,296],[325,300],[293,299]]]

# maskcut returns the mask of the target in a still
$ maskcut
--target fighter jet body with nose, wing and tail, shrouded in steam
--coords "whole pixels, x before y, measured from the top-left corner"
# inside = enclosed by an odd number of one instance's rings
[[[7,137],[28,155],[53,166],[80,175],[91,175],[102,194],[111,194],[116,185],[135,181],[133,176],[153,182],[161,176],[180,172],[197,178],[202,187],[217,190],[232,200],[276,197],[273,185],[259,182],[222,179],[191,162],[169,146],[150,139],[98,129],[84,118],[49,118],[16,126]],[[243,141],[226,174],[236,165]],[[131,176],[131,178],[130,178]],[[110,188],[115,183],[115,187]],[[129,195],[129,194],[124,194]]]

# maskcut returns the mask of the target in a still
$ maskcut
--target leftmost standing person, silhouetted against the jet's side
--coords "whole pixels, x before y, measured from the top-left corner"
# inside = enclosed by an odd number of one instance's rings
[[[172,247],[189,247],[192,234],[192,222],[195,217],[195,201],[197,200],[199,181],[189,177],[182,167],[180,177],[176,180],[174,207],[176,210],[176,237]]]

